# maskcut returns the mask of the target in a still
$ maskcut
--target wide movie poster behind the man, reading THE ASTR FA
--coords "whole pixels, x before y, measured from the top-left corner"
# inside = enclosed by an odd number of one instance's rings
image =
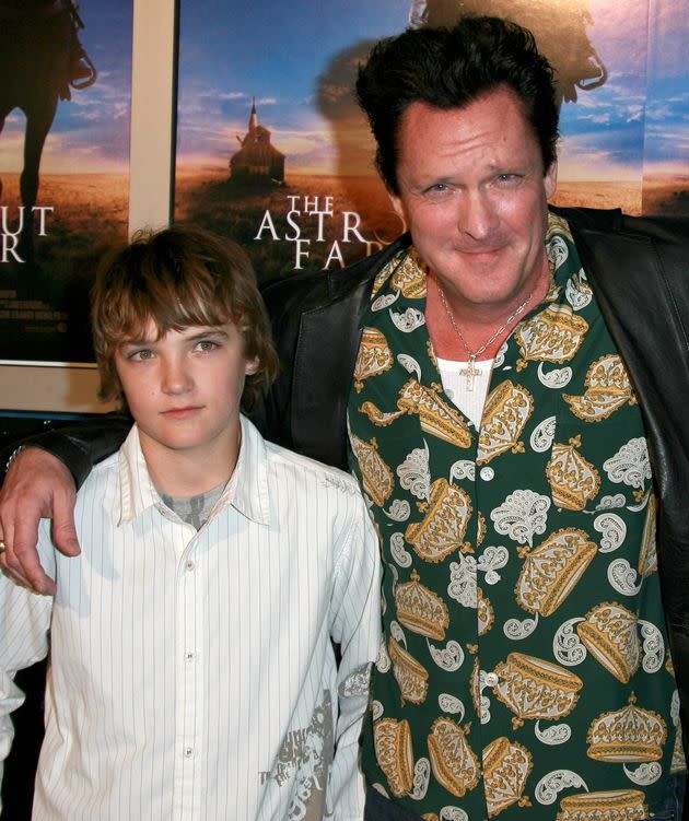
[[[175,219],[240,242],[261,283],[340,269],[402,230],[352,87],[379,37],[512,16],[551,60],[559,204],[689,213],[679,0],[179,0]]]

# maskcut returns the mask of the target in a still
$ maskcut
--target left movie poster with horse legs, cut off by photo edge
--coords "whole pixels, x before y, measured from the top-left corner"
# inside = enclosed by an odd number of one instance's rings
[[[93,362],[89,261],[127,236],[132,2],[0,2],[2,363]]]

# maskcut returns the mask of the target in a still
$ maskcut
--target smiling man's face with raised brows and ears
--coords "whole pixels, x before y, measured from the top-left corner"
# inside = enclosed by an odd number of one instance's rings
[[[412,103],[399,127],[402,216],[421,258],[456,304],[504,316],[548,275],[547,198],[538,141],[506,87],[463,108]]]

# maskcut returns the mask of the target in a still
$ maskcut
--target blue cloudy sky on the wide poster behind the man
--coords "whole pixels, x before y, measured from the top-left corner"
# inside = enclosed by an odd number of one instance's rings
[[[315,78],[353,44],[399,32],[409,12],[409,0],[180,2],[179,165],[226,167],[255,96],[259,120],[290,167],[312,173],[335,168]],[[546,14],[567,13],[568,0],[534,2]],[[588,37],[609,77],[603,86],[580,92],[577,103],[563,105],[561,176],[634,179],[642,164],[651,172],[689,172],[689,79],[682,69],[689,16],[682,5],[589,0]]]

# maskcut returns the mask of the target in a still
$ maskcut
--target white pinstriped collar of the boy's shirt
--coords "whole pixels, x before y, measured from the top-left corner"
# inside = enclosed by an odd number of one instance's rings
[[[270,493],[268,489],[268,454],[266,443],[256,427],[241,418],[242,443],[232,479],[223,491],[215,513],[232,505],[238,513],[259,525],[270,521]],[[140,516],[149,507],[160,505],[161,497],[143,458],[139,430],[135,424],[119,450],[119,509],[115,512],[118,525]]]

